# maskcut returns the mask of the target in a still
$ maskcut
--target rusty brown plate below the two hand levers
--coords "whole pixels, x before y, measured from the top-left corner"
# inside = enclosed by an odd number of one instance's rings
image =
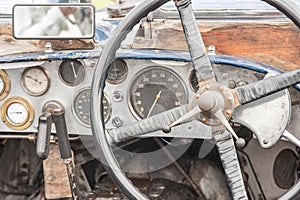
[[[49,156],[43,162],[47,199],[72,197],[66,165],[60,158],[58,145],[50,145]]]

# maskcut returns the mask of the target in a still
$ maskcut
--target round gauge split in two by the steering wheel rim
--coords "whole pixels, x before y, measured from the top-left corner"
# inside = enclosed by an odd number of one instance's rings
[[[90,88],[86,88],[81,90],[75,97],[73,102],[73,110],[76,118],[81,122],[84,126],[90,127],[90,96],[91,90]],[[110,118],[111,114],[111,106],[108,98],[104,95],[103,100],[103,116],[104,121],[107,122]]]

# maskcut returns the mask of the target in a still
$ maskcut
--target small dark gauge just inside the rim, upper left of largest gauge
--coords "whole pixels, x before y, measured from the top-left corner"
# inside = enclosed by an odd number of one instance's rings
[[[106,81],[118,84],[126,79],[128,68],[123,60],[114,60],[108,68]]]

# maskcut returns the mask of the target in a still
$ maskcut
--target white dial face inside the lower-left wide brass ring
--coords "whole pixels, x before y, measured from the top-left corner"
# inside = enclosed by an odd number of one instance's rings
[[[20,103],[12,103],[7,108],[7,117],[14,124],[23,124],[28,119],[28,111]]]

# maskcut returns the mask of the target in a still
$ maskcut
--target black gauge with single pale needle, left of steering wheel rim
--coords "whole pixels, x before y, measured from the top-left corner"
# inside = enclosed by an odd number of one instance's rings
[[[78,60],[65,60],[60,64],[58,73],[65,84],[76,86],[84,79],[84,66]]]

